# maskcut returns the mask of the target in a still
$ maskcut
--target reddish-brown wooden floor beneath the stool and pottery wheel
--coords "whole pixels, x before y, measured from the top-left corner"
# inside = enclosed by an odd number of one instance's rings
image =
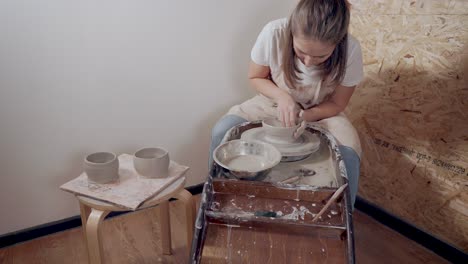
[[[183,209],[171,202],[173,255],[161,254],[156,210],[143,210],[105,220],[106,263],[187,263]],[[381,225],[354,213],[357,263],[448,263],[438,255]],[[81,228],[0,249],[0,263],[87,263]],[[307,263],[307,262],[304,262]],[[263,264],[263,263],[262,263]]]

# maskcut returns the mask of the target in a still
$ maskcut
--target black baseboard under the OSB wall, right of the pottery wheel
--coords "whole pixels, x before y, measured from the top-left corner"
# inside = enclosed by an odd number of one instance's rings
[[[408,239],[415,241],[435,254],[445,258],[451,263],[468,263],[468,255],[462,250],[424,232],[418,227],[398,218],[359,196],[356,198],[354,207],[374,218],[381,224],[395,230]]]

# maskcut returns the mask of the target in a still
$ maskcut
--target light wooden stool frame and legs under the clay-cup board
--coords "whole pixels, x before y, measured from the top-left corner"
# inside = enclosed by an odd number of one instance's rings
[[[171,225],[169,218],[169,199],[176,198],[184,203],[186,216],[187,248],[190,251],[195,221],[195,203],[192,194],[184,189],[185,177],[181,177],[160,194],[146,201],[137,210],[159,205],[161,241],[163,254],[171,254]],[[81,223],[85,242],[88,248],[88,259],[90,264],[103,262],[101,223],[110,213],[117,211],[128,211],[110,203],[98,201],[89,197],[76,196],[80,203]]]

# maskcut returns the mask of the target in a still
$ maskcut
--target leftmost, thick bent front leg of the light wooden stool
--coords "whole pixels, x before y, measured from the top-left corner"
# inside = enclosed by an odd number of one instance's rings
[[[103,263],[103,247],[102,247],[102,220],[108,215],[108,211],[91,209],[88,222],[86,224],[86,239],[88,241],[88,257],[90,264]]]

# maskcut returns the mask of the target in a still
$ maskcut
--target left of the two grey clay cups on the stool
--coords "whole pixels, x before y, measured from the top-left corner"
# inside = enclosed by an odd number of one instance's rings
[[[83,167],[90,182],[109,183],[119,178],[119,159],[111,152],[89,154]]]

